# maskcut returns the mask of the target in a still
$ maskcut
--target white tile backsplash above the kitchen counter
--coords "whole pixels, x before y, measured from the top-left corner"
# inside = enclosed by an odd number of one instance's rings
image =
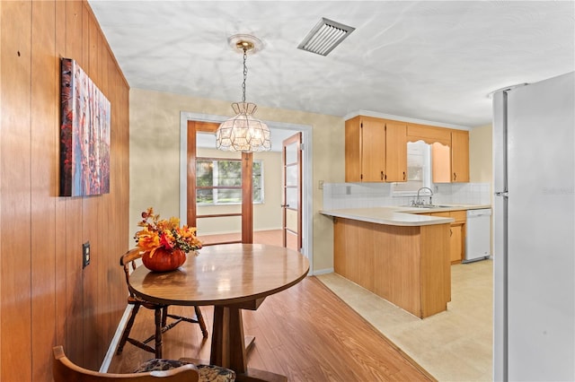
[[[392,193],[391,183],[325,183],[323,210],[407,205],[415,196]],[[491,183],[445,183],[433,186],[434,204],[491,204]]]

